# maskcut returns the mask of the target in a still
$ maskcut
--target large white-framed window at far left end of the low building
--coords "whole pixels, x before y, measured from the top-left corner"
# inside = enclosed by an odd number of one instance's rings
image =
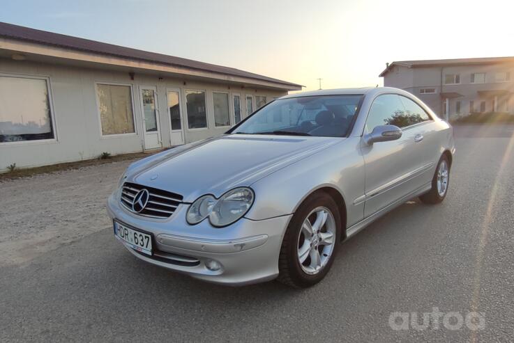
[[[0,142],[53,139],[47,79],[0,76]]]

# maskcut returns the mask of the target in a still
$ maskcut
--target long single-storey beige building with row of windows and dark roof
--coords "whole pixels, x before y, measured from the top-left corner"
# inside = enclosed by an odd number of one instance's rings
[[[0,170],[222,134],[296,83],[0,22]]]

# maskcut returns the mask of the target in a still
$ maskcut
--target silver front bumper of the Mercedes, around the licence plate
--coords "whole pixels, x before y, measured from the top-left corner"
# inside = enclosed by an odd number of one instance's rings
[[[225,285],[248,285],[278,276],[282,237],[292,215],[262,221],[241,218],[225,228],[214,228],[208,220],[189,225],[188,206],[179,205],[166,220],[146,218],[128,212],[113,193],[107,213],[114,221],[153,235],[153,256],[122,242],[130,253],[151,264]],[[209,260],[219,262],[220,269],[207,268]]]

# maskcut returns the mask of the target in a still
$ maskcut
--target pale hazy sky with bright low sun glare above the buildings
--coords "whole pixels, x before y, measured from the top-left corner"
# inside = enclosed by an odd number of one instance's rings
[[[303,90],[382,85],[386,62],[514,56],[514,1],[0,0],[0,21],[236,67]]]

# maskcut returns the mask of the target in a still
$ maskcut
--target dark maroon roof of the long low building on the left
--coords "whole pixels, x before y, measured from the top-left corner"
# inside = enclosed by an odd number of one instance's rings
[[[31,29],[29,27],[8,24],[5,22],[0,22],[0,37],[24,40],[27,42],[35,42],[38,44],[50,45],[54,47],[64,47],[66,49],[92,52],[95,54],[102,54],[107,56],[129,58],[137,61],[149,61],[152,63],[162,63],[176,67],[186,67],[194,70],[202,70],[206,72],[215,72],[236,77],[245,77],[248,79],[269,81],[273,83],[280,83],[281,85],[285,86],[290,86],[292,90],[301,89],[301,85],[296,83],[273,79],[271,77],[254,74],[252,72],[245,72],[244,70],[239,70],[236,68],[193,61],[187,58],[158,54],[156,52],[132,49],[130,47],[121,47],[120,45],[113,45],[104,42],[98,42],[96,40],[73,37],[71,35],[62,35],[60,33]]]

